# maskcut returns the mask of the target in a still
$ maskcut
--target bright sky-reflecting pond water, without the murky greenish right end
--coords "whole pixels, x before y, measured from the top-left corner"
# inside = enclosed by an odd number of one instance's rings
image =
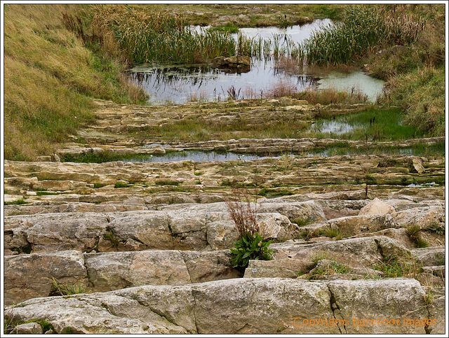
[[[289,41],[301,42],[313,29],[331,24],[329,19],[287,29],[277,27],[242,28],[241,34],[249,38],[275,38],[279,46]],[[220,101],[229,96],[227,90],[234,86],[240,90],[239,99],[255,99],[267,92],[281,79],[297,90],[315,87],[316,78],[306,74],[283,71],[274,59],[252,59],[249,69],[216,68],[204,64],[141,64],[131,69],[131,77],[151,94],[152,103],[184,103],[192,99]]]

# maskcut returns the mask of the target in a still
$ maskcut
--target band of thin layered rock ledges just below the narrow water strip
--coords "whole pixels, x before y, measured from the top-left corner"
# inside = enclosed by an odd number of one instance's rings
[[[4,178],[4,184],[7,190],[16,191],[92,193],[101,192],[98,190],[101,186],[111,185],[108,187],[110,189],[117,184],[126,188],[140,188],[142,192],[152,192],[163,185],[169,185],[175,186],[175,191],[182,192],[202,187],[229,188],[235,184],[258,186],[262,189],[368,183],[375,188],[375,185],[442,183],[444,180],[443,157],[423,162],[427,168],[421,174],[413,169],[415,157],[394,157],[399,161],[398,167],[381,166],[382,161],[391,158],[393,157],[286,157],[257,161],[126,164],[5,161],[5,174],[8,177]]]

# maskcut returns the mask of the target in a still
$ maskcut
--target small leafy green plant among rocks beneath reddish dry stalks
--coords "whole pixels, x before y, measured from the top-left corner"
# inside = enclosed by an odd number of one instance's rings
[[[241,239],[234,241],[235,248],[231,248],[234,256],[231,258],[232,267],[248,267],[249,260],[272,260],[273,250],[269,249],[272,241],[264,241],[260,234],[247,232]]]

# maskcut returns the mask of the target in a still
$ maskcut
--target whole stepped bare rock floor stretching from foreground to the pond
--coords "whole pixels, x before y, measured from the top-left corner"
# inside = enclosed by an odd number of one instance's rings
[[[257,129],[307,122],[317,109],[363,108],[272,102],[201,111],[98,101],[98,123],[55,155],[5,161],[6,332],[444,334],[444,157],[307,157],[335,143],[380,142],[151,134],[192,120],[244,120]],[[272,157],[59,162],[179,150]],[[229,262],[236,230],[226,201],[236,188],[253,194],[274,251],[273,260],[251,260],[245,271]]]

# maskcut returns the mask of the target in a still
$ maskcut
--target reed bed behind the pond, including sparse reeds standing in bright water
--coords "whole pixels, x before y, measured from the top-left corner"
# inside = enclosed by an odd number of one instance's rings
[[[114,36],[122,54],[132,63],[203,63],[220,56],[245,55],[255,59],[301,55],[300,46],[288,36],[234,37],[228,29],[194,29],[181,15],[149,13],[124,6],[97,6],[93,35],[103,43]]]

